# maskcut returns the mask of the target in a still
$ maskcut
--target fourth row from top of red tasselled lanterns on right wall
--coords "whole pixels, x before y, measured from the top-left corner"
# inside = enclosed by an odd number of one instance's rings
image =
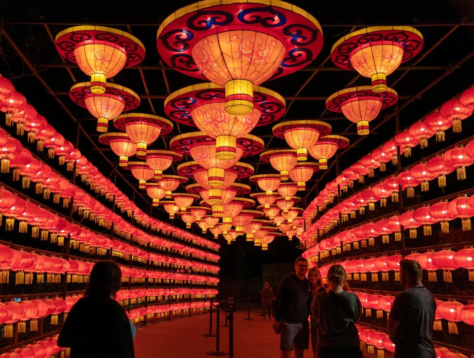
[[[312,253],[306,251],[304,254],[308,260],[311,260]],[[359,259],[343,261],[339,263],[342,265],[346,272],[354,274],[353,279],[360,279],[362,281],[367,280],[367,272],[372,273],[372,281],[378,281],[378,272],[382,272],[382,280],[387,281],[389,279],[388,272],[391,270],[395,271],[395,279],[399,275],[400,260],[403,257],[399,254],[391,256],[379,256],[369,259]],[[443,279],[445,282],[452,282],[451,271],[458,268],[465,268],[468,270],[468,276],[470,281],[474,281],[474,249],[472,247],[460,249],[456,252],[450,249],[444,249],[440,251],[427,251],[425,253],[412,253],[404,257],[407,260],[416,260],[420,264],[421,268],[428,271],[429,281],[436,281],[437,275],[436,270],[443,270]],[[331,265],[325,265],[320,268],[323,277],[326,276],[327,270]]]

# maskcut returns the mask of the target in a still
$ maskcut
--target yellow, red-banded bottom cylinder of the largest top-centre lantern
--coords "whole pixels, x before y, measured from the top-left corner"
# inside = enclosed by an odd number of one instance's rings
[[[242,115],[253,110],[253,85],[247,80],[226,82],[226,112]]]

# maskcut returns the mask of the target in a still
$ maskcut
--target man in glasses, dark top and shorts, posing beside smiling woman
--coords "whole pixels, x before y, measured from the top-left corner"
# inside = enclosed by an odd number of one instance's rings
[[[275,323],[273,329],[280,332],[280,358],[303,358],[308,349],[310,287],[306,278],[308,260],[299,257],[295,261],[295,273],[284,277],[278,285],[275,300]]]

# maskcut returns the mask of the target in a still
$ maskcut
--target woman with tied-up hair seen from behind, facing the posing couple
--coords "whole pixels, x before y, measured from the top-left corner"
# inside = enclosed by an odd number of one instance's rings
[[[353,292],[344,291],[346,270],[333,265],[327,271],[329,292],[316,293],[311,311],[316,321],[318,358],[362,358],[356,321],[362,311]]]

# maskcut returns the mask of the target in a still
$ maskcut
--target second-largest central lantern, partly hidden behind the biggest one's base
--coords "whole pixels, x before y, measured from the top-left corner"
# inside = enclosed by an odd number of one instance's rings
[[[279,119],[285,110],[283,97],[263,87],[254,88],[255,108],[246,114],[229,114],[225,110],[224,88],[212,83],[189,86],[171,93],[164,102],[168,117],[187,126],[196,126],[216,139],[216,157],[236,157],[237,138],[256,126]]]

